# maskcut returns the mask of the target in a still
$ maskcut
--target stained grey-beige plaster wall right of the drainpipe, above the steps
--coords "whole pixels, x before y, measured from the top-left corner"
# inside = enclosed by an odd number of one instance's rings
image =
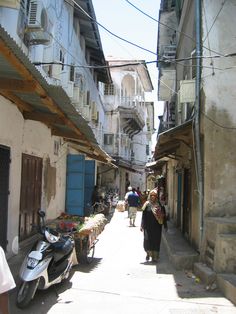
[[[204,45],[211,54],[236,51],[235,1],[227,1],[214,26],[209,29],[222,7],[220,0],[205,0],[203,17]],[[207,49],[203,54],[209,56]],[[235,57],[203,59],[202,126],[204,133],[205,214],[236,215],[236,70]],[[206,68],[208,67],[208,68]]]

